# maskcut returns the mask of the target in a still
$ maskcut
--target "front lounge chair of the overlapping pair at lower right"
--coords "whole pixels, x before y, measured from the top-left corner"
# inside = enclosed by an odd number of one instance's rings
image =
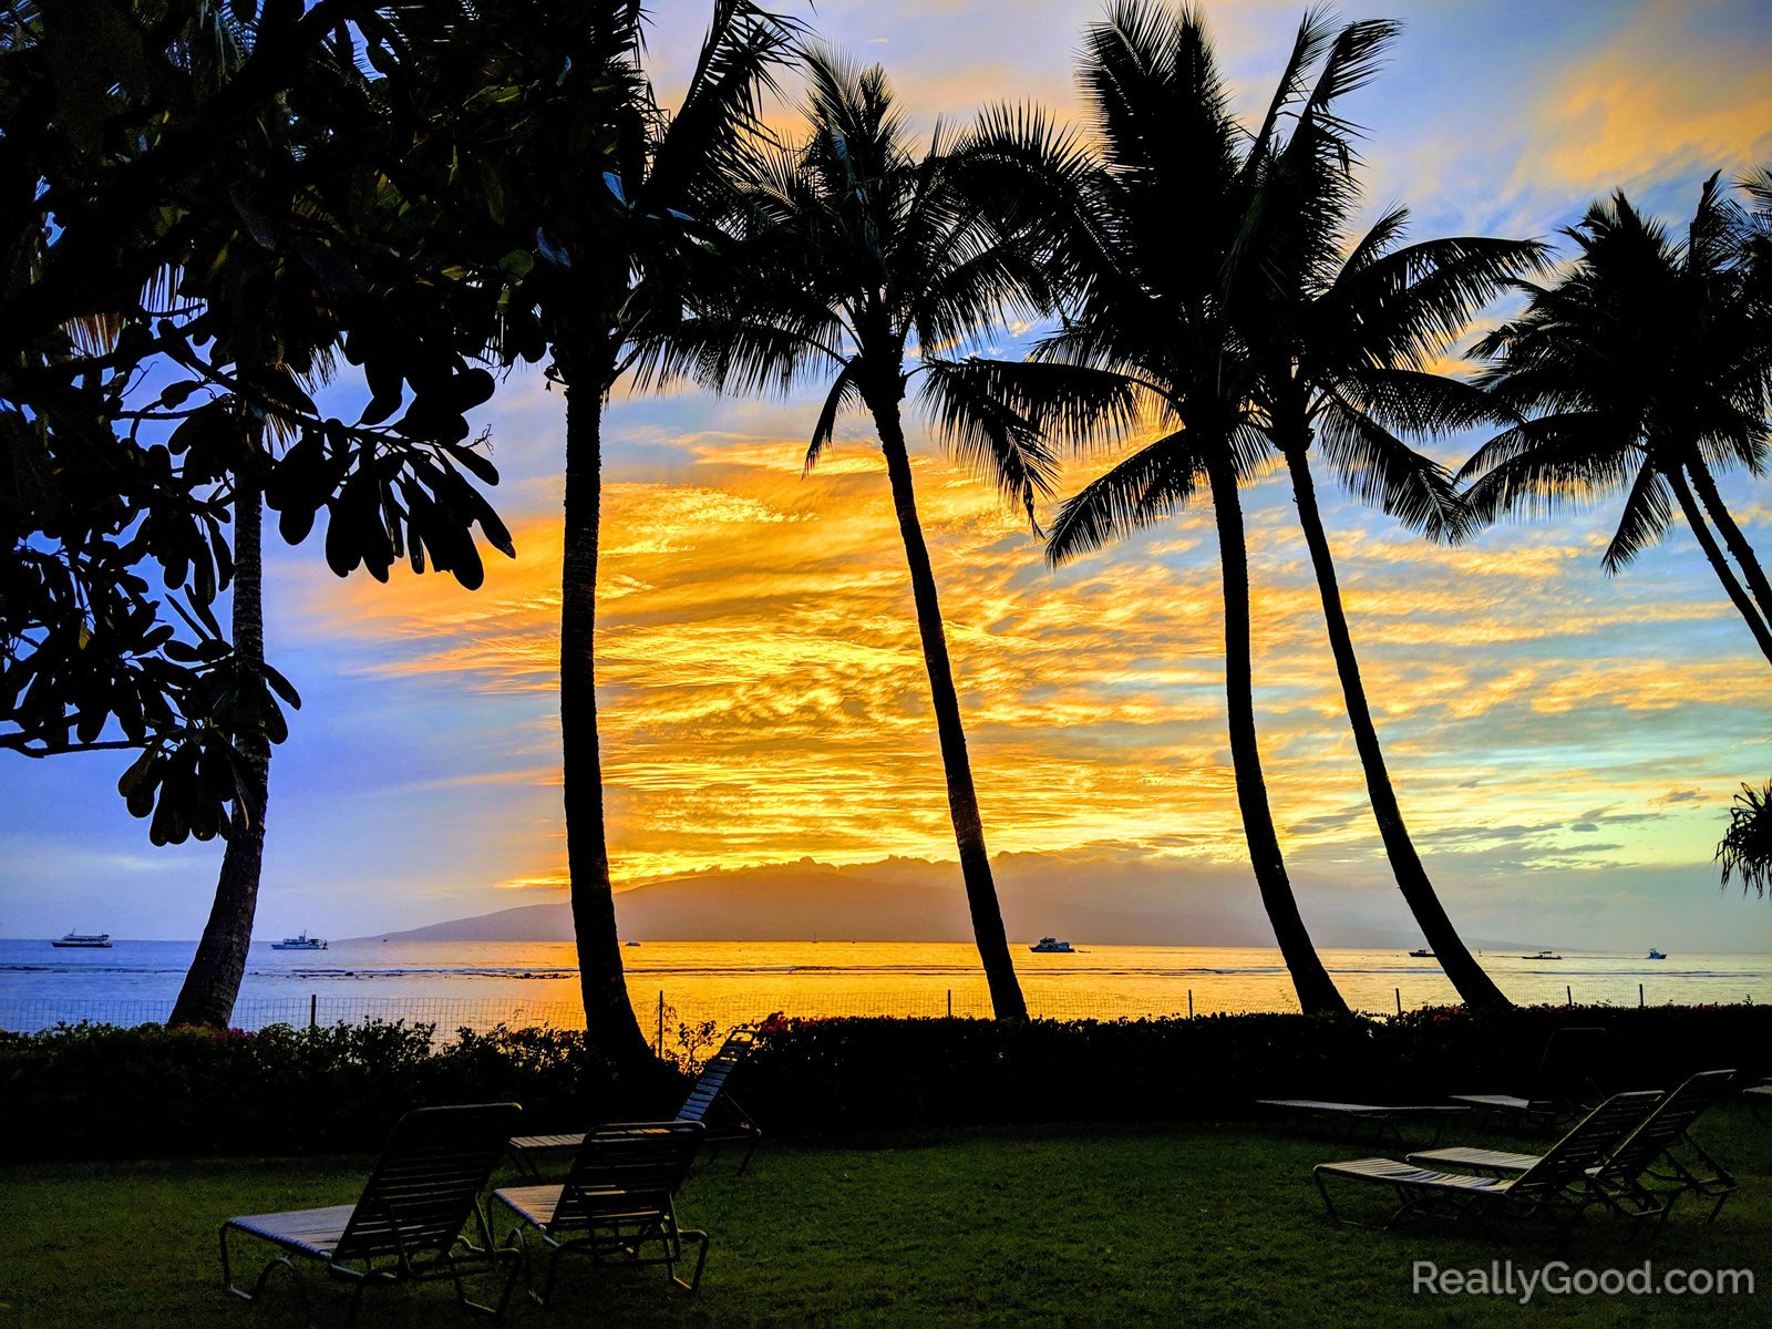
[[[1660,1097],[1655,1090],[1613,1095],[1519,1177],[1473,1177],[1393,1159],[1354,1159],[1317,1164],[1313,1171],[1317,1191],[1329,1217],[1338,1223],[1352,1219],[1336,1210],[1325,1185],[1325,1178],[1331,1177],[1391,1187],[1398,1207],[1380,1224],[1386,1228],[1405,1216],[1453,1219],[1494,1216],[1513,1224],[1543,1217],[1566,1235],[1589,1205],[1604,1200],[1588,1170],[1602,1164],[1620,1136],[1641,1122]]]

